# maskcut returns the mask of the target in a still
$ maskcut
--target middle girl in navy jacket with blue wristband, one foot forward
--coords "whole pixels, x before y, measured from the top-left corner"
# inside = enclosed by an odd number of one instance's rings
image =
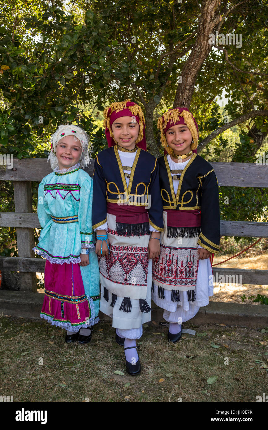
[[[151,319],[151,259],[160,254],[163,231],[158,163],[146,152],[145,120],[136,103],[106,107],[104,126],[108,149],[95,159],[92,210],[100,310],[113,319],[126,371],[137,375],[136,339]]]

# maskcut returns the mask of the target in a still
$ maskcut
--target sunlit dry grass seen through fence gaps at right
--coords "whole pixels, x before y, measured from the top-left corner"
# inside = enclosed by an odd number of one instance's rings
[[[217,255],[214,257],[213,264],[224,261],[231,255]],[[240,256],[233,258],[232,260],[226,261],[226,263],[220,264],[218,267],[231,267],[234,269],[257,269],[257,270],[268,270],[268,252],[263,252],[261,255],[254,255],[251,257]],[[268,280],[267,280],[268,282]],[[210,298],[211,301],[224,301],[232,303],[244,303],[244,304],[256,304],[253,300],[242,301],[241,296],[245,294],[246,298],[257,294],[268,295],[268,286],[264,285],[252,285],[242,284],[242,286],[228,285],[222,283],[214,284],[214,296]]]

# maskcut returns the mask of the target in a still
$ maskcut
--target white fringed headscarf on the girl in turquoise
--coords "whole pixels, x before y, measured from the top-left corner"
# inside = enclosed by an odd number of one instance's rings
[[[49,153],[47,161],[50,161],[51,169],[56,170],[59,169],[59,162],[56,157],[56,146],[59,143],[59,141],[64,136],[74,136],[74,140],[77,141],[77,139],[81,143],[82,147],[82,153],[80,157],[80,163],[82,169],[85,169],[90,163],[91,155],[92,155],[92,144],[89,142],[89,136],[86,134],[86,132],[81,129],[79,126],[75,126],[74,124],[62,124],[59,126],[57,131],[51,136],[51,151]]]

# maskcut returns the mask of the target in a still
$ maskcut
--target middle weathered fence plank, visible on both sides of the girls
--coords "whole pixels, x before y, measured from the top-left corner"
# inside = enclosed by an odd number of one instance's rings
[[[0,212],[0,227],[40,228],[37,214]],[[268,237],[268,223],[221,221],[221,236]]]

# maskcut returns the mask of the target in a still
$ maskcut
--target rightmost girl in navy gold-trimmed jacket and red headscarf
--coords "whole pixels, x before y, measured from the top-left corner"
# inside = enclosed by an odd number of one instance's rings
[[[157,127],[167,154],[158,160],[164,231],[153,263],[152,299],[164,309],[168,340],[175,343],[182,322],[213,295],[210,258],[219,252],[219,192],[212,166],[193,153],[198,127],[188,109],[169,109]]]

